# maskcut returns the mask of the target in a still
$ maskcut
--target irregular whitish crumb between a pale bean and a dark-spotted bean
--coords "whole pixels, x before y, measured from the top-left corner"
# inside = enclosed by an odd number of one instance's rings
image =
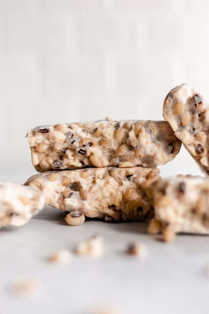
[[[92,236],[87,241],[78,244],[75,252],[79,255],[89,255],[99,258],[104,253],[104,241],[99,235]]]

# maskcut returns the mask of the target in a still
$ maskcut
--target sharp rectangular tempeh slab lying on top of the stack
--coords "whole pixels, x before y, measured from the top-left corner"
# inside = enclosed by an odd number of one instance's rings
[[[29,129],[37,171],[156,166],[173,160],[181,142],[165,121],[99,121]]]

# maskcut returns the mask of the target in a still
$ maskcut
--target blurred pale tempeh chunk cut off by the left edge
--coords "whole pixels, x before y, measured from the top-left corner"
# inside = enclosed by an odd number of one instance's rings
[[[44,207],[44,193],[19,183],[0,181],[0,227],[22,226]]]

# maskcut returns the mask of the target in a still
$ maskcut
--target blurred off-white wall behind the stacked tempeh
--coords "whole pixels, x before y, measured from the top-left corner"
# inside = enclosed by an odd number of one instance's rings
[[[209,99],[208,15],[195,0],[0,0],[0,170],[34,171],[28,127],[160,120],[181,83]],[[199,173],[177,158],[172,173]]]

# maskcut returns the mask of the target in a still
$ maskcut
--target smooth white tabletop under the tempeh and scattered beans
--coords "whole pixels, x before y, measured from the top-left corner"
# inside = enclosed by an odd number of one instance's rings
[[[0,173],[2,179],[23,183],[35,173],[29,169],[29,165],[28,170],[20,167],[10,172],[0,168]],[[0,229],[0,313],[92,314],[104,304],[126,314],[208,311],[207,236],[179,235],[166,244],[159,236],[147,235],[145,222],[87,220],[81,226],[69,226],[66,214],[45,206],[27,225]],[[65,266],[48,262],[54,251],[72,250],[95,233],[105,239],[103,258],[75,257]],[[132,241],[147,246],[146,259],[124,254]],[[40,280],[42,295],[34,300],[11,295],[11,284],[24,279]]]

